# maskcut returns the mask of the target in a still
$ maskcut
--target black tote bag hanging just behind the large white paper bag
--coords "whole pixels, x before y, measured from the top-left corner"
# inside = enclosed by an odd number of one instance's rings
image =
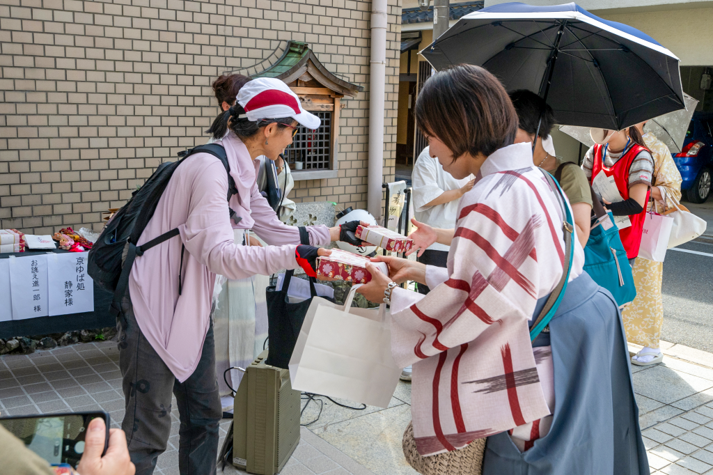
[[[300,227],[299,234],[300,242],[309,245],[307,230]],[[287,289],[289,289],[292,275],[294,275],[294,270],[288,270],[284,273],[281,290],[277,290],[276,286],[267,287],[267,290],[265,290],[265,300],[267,300],[267,339],[270,342],[265,364],[282,369],[288,369],[287,364],[292,357],[294,344],[297,343],[304,317],[307,315],[309,305],[312,304],[312,299],[317,297],[317,289],[314,287],[317,280],[314,277],[309,277],[309,293],[311,297],[302,302],[289,303]],[[334,302],[333,299],[327,300]]]

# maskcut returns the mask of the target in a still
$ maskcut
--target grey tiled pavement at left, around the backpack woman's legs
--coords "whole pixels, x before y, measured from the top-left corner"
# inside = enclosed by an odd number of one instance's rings
[[[124,417],[116,342],[76,344],[29,355],[0,357],[0,412],[4,415],[103,410],[111,426]],[[173,400],[175,408],[175,399]],[[178,474],[178,409],[155,474]],[[220,424],[220,444],[230,420]],[[326,441],[302,429],[299,446],[280,475],[373,475]],[[225,474],[243,474],[232,466]]]

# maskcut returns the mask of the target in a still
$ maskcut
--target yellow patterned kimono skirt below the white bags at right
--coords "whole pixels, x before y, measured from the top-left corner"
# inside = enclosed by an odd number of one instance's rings
[[[663,262],[637,257],[632,271],[636,298],[622,310],[627,340],[645,347],[658,348],[664,323],[661,295]]]

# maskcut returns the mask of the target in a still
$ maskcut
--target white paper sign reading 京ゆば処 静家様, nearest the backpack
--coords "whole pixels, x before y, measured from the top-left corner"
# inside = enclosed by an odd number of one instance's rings
[[[87,253],[47,256],[49,315],[94,311],[94,281],[87,274]]]

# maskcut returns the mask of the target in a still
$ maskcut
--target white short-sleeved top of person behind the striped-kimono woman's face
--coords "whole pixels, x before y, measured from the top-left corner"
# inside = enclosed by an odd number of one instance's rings
[[[455,228],[456,213],[458,212],[458,202],[460,200],[453,200],[449,203],[435,206],[426,206],[426,203],[431,203],[445,191],[463,188],[468,183],[468,180],[472,179],[473,175],[462,180],[456,180],[453,175],[443,170],[441,163],[438,163],[438,158],[431,157],[429,147],[424,148],[419,158],[416,158],[414,173],[411,175],[411,185],[414,189],[414,217],[416,220],[433,228]],[[429,246],[429,249],[447,251],[450,246],[435,242]]]

